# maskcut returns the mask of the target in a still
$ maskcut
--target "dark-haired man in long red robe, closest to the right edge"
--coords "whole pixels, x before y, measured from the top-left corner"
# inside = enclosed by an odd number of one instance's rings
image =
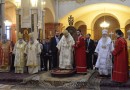
[[[117,40],[115,42],[115,49],[112,52],[114,55],[114,66],[112,80],[123,83],[128,80],[128,52],[127,42],[122,37],[123,32],[120,29],[115,31]]]

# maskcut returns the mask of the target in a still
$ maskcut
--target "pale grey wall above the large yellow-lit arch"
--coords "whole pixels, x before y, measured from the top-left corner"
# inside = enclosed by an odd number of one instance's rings
[[[63,18],[68,13],[71,13],[72,11],[78,8],[85,7],[92,4],[110,3],[110,4],[120,4],[120,5],[130,6],[129,0],[126,0],[125,2],[122,2],[121,0],[86,0],[84,3],[77,3],[76,0],[58,0],[58,1],[59,1],[58,2],[59,19]]]

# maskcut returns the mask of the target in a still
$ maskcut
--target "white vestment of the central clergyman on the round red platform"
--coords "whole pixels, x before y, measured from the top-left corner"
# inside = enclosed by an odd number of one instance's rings
[[[73,45],[75,41],[69,34],[66,38],[62,36],[61,40],[57,44],[57,48],[60,51],[59,56],[59,68],[61,69],[73,69]]]

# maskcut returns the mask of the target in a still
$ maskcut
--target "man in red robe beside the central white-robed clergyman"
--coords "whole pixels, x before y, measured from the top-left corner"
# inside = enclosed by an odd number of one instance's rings
[[[75,44],[75,64],[77,73],[86,73],[86,48],[85,40],[81,35],[81,31],[77,30],[78,39]]]

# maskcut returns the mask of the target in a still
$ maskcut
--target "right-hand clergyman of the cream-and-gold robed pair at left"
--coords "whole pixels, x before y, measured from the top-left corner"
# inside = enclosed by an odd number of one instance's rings
[[[29,34],[30,40],[25,49],[27,54],[27,67],[30,74],[38,73],[39,70],[39,54],[41,53],[41,48],[39,42],[34,38],[33,33]]]

